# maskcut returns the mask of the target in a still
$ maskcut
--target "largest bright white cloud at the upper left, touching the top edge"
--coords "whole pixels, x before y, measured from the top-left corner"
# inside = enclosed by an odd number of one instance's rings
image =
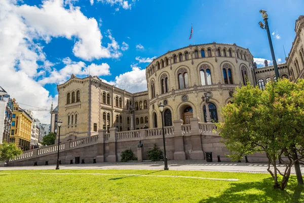
[[[35,33],[36,38],[49,41],[56,37],[75,38],[72,49],[75,56],[85,60],[94,58],[117,57],[117,53],[101,46],[102,35],[98,23],[94,18],[87,18],[80,7],[63,7],[63,0],[43,1],[43,5],[14,6],[13,12],[24,18],[28,30]]]

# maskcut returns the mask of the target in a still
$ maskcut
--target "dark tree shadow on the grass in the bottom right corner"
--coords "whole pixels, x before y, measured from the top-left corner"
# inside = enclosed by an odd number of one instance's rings
[[[216,197],[201,199],[200,203],[228,202],[303,202],[303,186],[297,186],[296,178],[290,178],[285,190],[274,189],[272,178],[258,182],[231,183],[230,187]]]

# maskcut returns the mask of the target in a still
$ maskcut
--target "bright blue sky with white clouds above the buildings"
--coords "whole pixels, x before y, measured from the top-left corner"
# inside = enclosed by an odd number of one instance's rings
[[[20,103],[47,108],[57,100],[57,84],[72,73],[86,77],[90,66],[91,75],[142,91],[152,57],[194,43],[191,23],[195,44],[236,43],[271,60],[260,9],[268,11],[276,58],[284,62],[283,45],[288,55],[302,8],[299,0],[4,0],[0,86]],[[5,76],[12,74],[21,85]]]

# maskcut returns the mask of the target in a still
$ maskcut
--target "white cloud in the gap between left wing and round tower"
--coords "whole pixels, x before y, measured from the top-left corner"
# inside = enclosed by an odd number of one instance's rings
[[[138,64],[131,65],[132,71],[116,76],[111,84],[129,92],[140,92],[147,90],[145,69],[141,69]]]

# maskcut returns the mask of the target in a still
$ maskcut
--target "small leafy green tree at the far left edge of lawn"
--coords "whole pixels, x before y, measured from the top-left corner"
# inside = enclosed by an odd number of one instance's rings
[[[0,161],[8,162],[11,158],[15,158],[20,154],[22,154],[22,150],[15,143],[3,142],[0,145]]]

